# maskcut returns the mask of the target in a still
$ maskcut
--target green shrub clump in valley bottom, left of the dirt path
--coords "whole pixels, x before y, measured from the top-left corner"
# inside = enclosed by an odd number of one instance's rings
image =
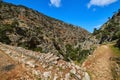
[[[83,62],[89,55],[90,50],[81,50],[81,48],[74,48],[72,45],[66,45],[65,60],[69,59],[77,62]]]

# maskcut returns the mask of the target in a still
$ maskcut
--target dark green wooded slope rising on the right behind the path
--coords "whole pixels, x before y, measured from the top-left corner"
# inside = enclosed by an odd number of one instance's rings
[[[93,35],[100,40],[100,43],[116,40],[117,46],[120,48],[120,10],[109,18],[99,30],[95,29]]]

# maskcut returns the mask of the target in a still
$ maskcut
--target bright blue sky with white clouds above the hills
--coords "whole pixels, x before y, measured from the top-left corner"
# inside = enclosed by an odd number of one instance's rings
[[[24,5],[89,32],[99,28],[120,9],[120,0],[4,0]]]

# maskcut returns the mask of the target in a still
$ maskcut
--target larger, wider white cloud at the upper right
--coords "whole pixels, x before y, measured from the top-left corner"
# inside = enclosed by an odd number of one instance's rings
[[[117,0],[90,0],[87,7],[90,8],[92,5],[95,6],[106,6],[116,2]]]

